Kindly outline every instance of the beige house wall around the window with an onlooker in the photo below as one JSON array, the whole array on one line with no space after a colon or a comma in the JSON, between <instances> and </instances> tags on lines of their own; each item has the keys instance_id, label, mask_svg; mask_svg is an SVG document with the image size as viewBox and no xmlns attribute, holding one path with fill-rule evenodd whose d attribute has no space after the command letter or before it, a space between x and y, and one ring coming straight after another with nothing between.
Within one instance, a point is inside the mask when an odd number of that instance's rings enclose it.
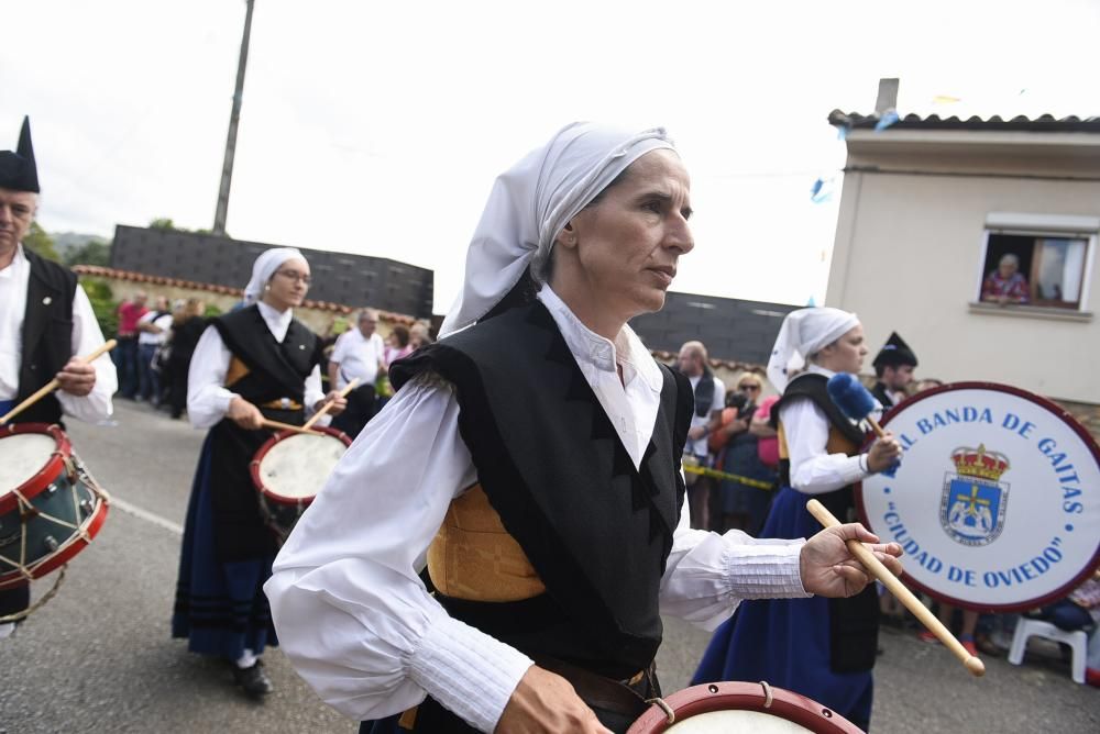
<instances>
[{"instance_id":1,"label":"beige house wall around the window with an onlooker","mask_svg":"<svg viewBox=\"0 0 1100 734\"><path fill-rule=\"evenodd\" d=\"M921 360L919 377L991 380L1100 403L1097 253L1086 275L1086 314L971 307L987 214L1100 216L1100 165L1091 153L1062 167L1060 158L1037 155L849 147L849 166L1010 177L848 173L826 302L859 314L872 351L898 331ZM1050 178L1025 177L1031 170ZM1058 176L1093 180L1054 180Z\"/></svg>"}]
</instances>

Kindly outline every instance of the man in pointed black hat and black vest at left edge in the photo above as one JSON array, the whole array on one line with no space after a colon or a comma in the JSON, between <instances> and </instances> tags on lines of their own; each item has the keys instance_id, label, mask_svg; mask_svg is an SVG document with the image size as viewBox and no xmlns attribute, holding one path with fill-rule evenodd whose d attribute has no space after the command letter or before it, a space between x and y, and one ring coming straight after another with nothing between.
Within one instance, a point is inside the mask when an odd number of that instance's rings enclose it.
<instances>
[{"instance_id":1,"label":"man in pointed black hat and black vest at left edge","mask_svg":"<svg viewBox=\"0 0 1100 734\"><path fill-rule=\"evenodd\" d=\"M37 205L38 173L24 118L19 146L0 151L0 415L56 377L58 389L11 422L59 423L63 413L99 421L111 414L114 365L106 355L90 365L76 358L101 346L103 335L76 275L23 246ZM29 600L26 586L0 590L0 619L25 610ZM12 630L0 622L0 638Z\"/></svg>"}]
</instances>

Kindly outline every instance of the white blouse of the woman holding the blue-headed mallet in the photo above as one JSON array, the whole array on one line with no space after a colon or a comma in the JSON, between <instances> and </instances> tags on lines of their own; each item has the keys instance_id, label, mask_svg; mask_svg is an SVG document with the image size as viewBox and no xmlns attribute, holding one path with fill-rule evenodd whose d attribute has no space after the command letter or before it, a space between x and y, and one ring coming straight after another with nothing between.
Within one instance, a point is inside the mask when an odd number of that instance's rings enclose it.
<instances>
[{"instance_id":1,"label":"white blouse of the woman holding the blue-headed mallet","mask_svg":"<svg viewBox=\"0 0 1100 734\"><path fill-rule=\"evenodd\" d=\"M811 365L806 370L832 377L835 372ZM867 456L827 454L829 421L813 400L792 400L779 409L791 461L791 487L804 494L823 494L870 476Z\"/></svg>"}]
</instances>

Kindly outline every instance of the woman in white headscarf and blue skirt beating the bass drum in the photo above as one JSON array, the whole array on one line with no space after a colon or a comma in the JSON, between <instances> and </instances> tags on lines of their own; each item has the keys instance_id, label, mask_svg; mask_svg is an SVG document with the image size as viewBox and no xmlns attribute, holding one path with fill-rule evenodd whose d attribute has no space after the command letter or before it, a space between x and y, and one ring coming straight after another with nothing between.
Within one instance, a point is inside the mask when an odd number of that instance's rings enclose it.
<instances>
[{"instance_id":1,"label":"woman in white headscarf and blue skirt beating the bass drum","mask_svg":"<svg viewBox=\"0 0 1100 734\"><path fill-rule=\"evenodd\" d=\"M816 533L821 525L806 510L813 497L837 518L854 519L851 485L889 469L901 456L901 445L890 434L860 453L865 432L826 391L833 375L858 375L865 356L864 327L853 313L800 309L783 320L768 363L768 378L782 392L771 413L779 432L781 488L761 535ZM846 599L747 602L715 633L695 682L767 680L866 731L878 615L873 587Z\"/></svg>"}]
</instances>

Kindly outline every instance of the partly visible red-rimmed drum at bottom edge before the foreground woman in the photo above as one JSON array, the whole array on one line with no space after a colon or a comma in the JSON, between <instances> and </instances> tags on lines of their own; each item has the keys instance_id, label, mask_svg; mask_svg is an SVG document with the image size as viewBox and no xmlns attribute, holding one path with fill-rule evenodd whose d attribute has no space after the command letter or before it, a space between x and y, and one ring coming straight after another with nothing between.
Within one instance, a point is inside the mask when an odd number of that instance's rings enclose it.
<instances>
[{"instance_id":1,"label":"partly visible red-rimmed drum at bottom edge before the foreground woman","mask_svg":"<svg viewBox=\"0 0 1100 734\"><path fill-rule=\"evenodd\" d=\"M646 710L627 734L862 734L818 703L767 683L693 686ZM670 721L671 719L671 721Z\"/></svg>"}]
</instances>

